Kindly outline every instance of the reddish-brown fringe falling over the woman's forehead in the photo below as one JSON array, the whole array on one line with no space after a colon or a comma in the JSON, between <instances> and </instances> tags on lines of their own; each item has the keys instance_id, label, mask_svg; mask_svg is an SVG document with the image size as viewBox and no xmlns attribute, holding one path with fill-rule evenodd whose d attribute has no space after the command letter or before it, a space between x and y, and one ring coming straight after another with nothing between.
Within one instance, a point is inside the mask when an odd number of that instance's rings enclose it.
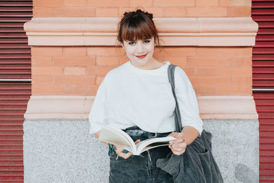
<instances>
[{"instance_id":1,"label":"reddish-brown fringe falling over the woman's forehead","mask_svg":"<svg viewBox=\"0 0 274 183\"><path fill-rule=\"evenodd\" d=\"M125 23L125 27L123 27L121 32L121 38L130 41L145 40L153 36L155 36L154 24L147 23L146 19L140 19L140 17L136 16Z\"/></svg>"}]
</instances>

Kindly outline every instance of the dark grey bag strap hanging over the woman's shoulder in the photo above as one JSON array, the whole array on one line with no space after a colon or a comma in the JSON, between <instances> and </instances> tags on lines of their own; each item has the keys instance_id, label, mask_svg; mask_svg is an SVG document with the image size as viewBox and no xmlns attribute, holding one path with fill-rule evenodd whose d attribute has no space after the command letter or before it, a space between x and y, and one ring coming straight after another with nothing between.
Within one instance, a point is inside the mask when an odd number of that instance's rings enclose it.
<instances>
[{"instance_id":1,"label":"dark grey bag strap hanging over the woman's shoulder","mask_svg":"<svg viewBox=\"0 0 274 183\"><path fill-rule=\"evenodd\" d=\"M175 72L175 67L177 65L173 65L170 64L169 68L168 68L168 75L169 75L169 83L171 84L171 88L172 88L172 93L173 93L173 97L175 99L175 114L174 114L174 118L175 118L175 127L176 127L176 132L181 132L182 131L182 121L181 121L181 114L179 112L179 106L178 106L178 102L177 102L177 97L175 95L175 81L174 81L174 72Z\"/></svg>"}]
</instances>

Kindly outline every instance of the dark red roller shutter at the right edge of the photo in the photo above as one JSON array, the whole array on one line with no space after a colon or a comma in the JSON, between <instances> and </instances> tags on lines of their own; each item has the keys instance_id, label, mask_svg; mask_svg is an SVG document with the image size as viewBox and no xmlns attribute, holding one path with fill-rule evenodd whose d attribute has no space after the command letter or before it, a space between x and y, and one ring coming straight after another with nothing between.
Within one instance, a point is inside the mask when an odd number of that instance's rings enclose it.
<instances>
[{"instance_id":1,"label":"dark red roller shutter at the right edge of the photo","mask_svg":"<svg viewBox=\"0 0 274 183\"><path fill-rule=\"evenodd\" d=\"M260 123L260 182L274 182L274 1L252 1L251 14L259 25L252 90Z\"/></svg>"}]
</instances>

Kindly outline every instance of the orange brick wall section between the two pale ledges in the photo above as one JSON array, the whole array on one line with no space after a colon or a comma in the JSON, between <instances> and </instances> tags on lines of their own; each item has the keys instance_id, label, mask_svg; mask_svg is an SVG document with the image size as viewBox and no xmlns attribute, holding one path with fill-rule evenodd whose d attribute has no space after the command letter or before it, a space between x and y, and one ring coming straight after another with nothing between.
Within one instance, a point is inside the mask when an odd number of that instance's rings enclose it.
<instances>
[{"instance_id":1,"label":"orange brick wall section between the two pale ledges","mask_svg":"<svg viewBox=\"0 0 274 183\"><path fill-rule=\"evenodd\" d=\"M96 95L108 71L128 61L116 47L32 47L32 95ZM197 95L251 95L251 47L162 47Z\"/></svg>"}]
</instances>

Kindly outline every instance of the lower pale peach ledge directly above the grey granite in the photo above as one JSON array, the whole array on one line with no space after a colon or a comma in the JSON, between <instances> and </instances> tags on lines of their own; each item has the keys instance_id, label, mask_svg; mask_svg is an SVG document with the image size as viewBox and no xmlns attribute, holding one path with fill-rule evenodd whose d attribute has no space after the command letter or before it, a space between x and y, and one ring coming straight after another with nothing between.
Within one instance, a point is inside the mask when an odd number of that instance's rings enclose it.
<instances>
[{"instance_id":1,"label":"lower pale peach ledge directly above the grey granite","mask_svg":"<svg viewBox=\"0 0 274 183\"><path fill-rule=\"evenodd\" d=\"M88 119L95 96L32 95L25 119ZM251 95L198 96L201 119L258 119Z\"/></svg>"}]
</instances>

